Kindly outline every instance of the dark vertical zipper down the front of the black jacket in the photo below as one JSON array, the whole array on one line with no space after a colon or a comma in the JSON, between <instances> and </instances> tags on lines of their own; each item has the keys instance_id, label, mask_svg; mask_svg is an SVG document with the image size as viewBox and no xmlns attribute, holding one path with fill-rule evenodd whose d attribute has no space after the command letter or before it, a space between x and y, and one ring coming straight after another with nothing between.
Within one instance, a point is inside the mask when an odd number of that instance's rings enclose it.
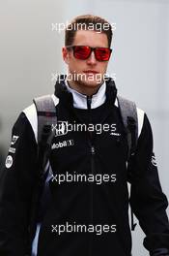
<instances>
[{"instance_id":1,"label":"dark vertical zipper down the front of the black jacket","mask_svg":"<svg viewBox=\"0 0 169 256\"><path fill-rule=\"evenodd\" d=\"M91 113L91 105L92 105L92 96L87 96L87 107L88 107L88 112L89 112L89 123L92 123L92 113ZM89 136L90 136L90 149L91 149L91 171L92 171L92 175L95 175L95 145L94 145L94 136L93 136L93 132L90 131L89 132ZM93 224L93 219L94 219L94 185L91 182L91 186L90 186L90 219L91 219L91 223ZM92 233L90 234L90 246L89 246L89 256L92 256L92 242L93 242L93 235Z\"/></svg>"}]
</instances>

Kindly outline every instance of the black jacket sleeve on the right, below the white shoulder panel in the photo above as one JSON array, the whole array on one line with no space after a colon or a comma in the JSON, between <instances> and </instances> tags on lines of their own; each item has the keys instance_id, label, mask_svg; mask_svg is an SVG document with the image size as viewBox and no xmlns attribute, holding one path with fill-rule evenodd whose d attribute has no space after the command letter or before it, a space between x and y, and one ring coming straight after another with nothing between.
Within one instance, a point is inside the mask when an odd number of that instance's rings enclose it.
<instances>
[{"instance_id":1,"label":"black jacket sleeve on the right, below the white shoulder panel","mask_svg":"<svg viewBox=\"0 0 169 256\"><path fill-rule=\"evenodd\" d=\"M146 114L135 155L128 166L132 174L130 205L146 234L143 244L151 255L169 255L168 202L161 189L153 133Z\"/></svg>"}]
</instances>

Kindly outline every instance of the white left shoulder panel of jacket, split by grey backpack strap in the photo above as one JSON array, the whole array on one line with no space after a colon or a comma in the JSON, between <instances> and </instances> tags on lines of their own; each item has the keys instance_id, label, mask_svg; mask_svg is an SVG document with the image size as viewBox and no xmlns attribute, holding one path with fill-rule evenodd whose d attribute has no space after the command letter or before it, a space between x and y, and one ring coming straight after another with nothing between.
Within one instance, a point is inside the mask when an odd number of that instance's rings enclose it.
<instances>
[{"instance_id":1,"label":"white left shoulder panel of jacket, split by grey backpack strap","mask_svg":"<svg viewBox=\"0 0 169 256\"><path fill-rule=\"evenodd\" d=\"M54 94L52 94L51 97L53 99L55 106L57 106L59 103L59 98L57 98ZM30 122L32 130L35 135L36 142L38 143L38 115L35 104L33 103L32 105L24 109L22 112L24 112L28 121Z\"/></svg>"}]
</instances>

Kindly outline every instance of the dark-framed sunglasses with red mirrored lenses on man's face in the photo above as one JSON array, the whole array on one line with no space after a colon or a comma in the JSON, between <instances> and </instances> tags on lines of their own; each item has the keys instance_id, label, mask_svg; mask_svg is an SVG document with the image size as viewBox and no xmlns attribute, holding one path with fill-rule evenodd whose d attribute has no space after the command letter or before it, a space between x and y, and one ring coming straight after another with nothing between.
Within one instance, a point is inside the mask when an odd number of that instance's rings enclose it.
<instances>
[{"instance_id":1,"label":"dark-framed sunglasses with red mirrored lenses on man's face","mask_svg":"<svg viewBox=\"0 0 169 256\"><path fill-rule=\"evenodd\" d=\"M81 60L89 58L92 51L94 51L97 60L107 61L112 52L111 48L90 48L86 46L69 46L67 48L72 48L74 57Z\"/></svg>"}]
</instances>

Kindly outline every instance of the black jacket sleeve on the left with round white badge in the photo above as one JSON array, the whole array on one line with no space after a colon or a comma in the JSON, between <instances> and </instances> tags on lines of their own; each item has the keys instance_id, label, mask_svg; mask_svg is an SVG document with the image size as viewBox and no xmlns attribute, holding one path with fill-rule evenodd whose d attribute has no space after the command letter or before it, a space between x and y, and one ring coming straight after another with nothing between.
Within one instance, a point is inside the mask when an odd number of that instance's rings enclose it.
<instances>
[{"instance_id":1,"label":"black jacket sleeve on the left with round white badge","mask_svg":"<svg viewBox=\"0 0 169 256\"><path fill-rule=\"evenodd\" d=\"M25 256L36 184L37 143L24 112L18 116L0 178L0 255Z\"/></svg>"}]
</instances>

